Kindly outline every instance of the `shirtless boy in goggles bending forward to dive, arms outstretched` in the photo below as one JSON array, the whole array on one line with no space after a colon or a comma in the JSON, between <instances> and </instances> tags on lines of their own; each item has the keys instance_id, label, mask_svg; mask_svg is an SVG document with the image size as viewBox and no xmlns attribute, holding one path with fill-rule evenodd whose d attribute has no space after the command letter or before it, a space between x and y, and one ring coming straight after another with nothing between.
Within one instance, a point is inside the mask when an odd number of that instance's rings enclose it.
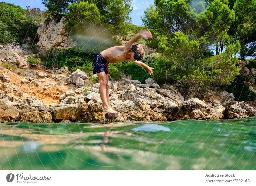
<instances>
[{"instance_id":1,"label":"shirtless boy in goggles bending forward to dive, arms outstretched","mask_svg":"<svg viewBox=\"0 0 256 186\"><path fill-rule=\"evenodd\" d=\"M98 54L93 62L93 74L97 74L100 80L100 98L103 103L103 112L105 113L117 113L111 108L109 93L108 93L108 63L118 63L123 61L132 61L142 68L148 70L149 75L153 74L153 69L143 62L139 61L144 56L144 49L140 44L134 44L138 39L142 37L144 39L152 38L152 34L149 30L142 30L140 34L135 35L131 40L125 43L124 46L114 46L106 50L103 50Z\"/></svg>"}]
</instances>

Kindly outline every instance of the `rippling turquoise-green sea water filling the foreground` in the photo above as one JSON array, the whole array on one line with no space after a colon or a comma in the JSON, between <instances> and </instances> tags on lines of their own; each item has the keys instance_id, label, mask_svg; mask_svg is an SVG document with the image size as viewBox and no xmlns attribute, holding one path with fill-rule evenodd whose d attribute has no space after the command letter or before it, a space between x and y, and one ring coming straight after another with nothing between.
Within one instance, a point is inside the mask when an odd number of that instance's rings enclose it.
<instances>
[{"instance_id":1,"label":"rippling turquoise-green sea water filling the foreground","mask_svg":"<svg viewBox=\"0 0 256 186\"><path fill-rule=\"evenodd\" d=\"M0 130L0 170L256 170L256 117Z\"/></svg>"}]
</instances>

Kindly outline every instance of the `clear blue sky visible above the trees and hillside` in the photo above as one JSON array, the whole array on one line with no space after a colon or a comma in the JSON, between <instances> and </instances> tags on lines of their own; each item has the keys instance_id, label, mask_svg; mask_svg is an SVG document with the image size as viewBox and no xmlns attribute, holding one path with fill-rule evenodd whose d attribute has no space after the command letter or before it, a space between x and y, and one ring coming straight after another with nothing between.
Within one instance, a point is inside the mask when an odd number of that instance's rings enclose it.
<instances>
[{"instance_id":1,"label":"clear blue sky visible above the trees and hillside","mask_svg":"<svg viewBox=\"0 0 256 186\"><path fill-rule=\"evenodd\" d=\"M40 8L41 10L46 9L43 6L42 0L0 0L7 3L12 3L14 5L20 5L22 8L26 9L26 6L31 8ZM130 14L132 18L132 23L135 25L141 25L141 17L144 15L143 11L149 7L149 5L154 4L154 0L132 0L133 11Z\"/></svg>"}]
</instances>

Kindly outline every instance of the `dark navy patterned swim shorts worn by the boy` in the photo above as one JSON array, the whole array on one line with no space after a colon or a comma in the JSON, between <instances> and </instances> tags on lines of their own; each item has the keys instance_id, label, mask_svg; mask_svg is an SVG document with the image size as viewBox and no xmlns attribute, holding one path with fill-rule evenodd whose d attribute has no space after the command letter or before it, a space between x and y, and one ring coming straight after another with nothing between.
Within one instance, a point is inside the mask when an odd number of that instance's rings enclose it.
<instances>
[{"instance_id":1,"label":"dark navy patterned swim shorts worn by the boy","mask_svg":"<svg viewBox=\"0 0 256 186\"><path fill-rule=\"evenodd\" d=\"M92 61L93 74L96 72L105 72L106 75L109 74L108 61L101 55L98 54Z\"/></svg>"}]
</instances>

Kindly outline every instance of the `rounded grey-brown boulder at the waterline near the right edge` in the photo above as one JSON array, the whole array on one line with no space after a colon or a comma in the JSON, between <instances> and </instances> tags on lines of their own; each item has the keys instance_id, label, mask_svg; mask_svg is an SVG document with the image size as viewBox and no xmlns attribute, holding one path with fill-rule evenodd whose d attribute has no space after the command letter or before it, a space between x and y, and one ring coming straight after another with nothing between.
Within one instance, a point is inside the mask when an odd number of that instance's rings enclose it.
<instances>
[{"instance_id":1,"label":"rounded grey-brown boulder at the waterline near the right edge","mask_svg":"<svg viewBox=\"0 0 256 186\"><path fill-rule=\"evenodd\" d=\"M238 119L247 117L249 117L248 112L237 105L227 106L223 112L224 119Z\"/></svg>"}]
</instances>

